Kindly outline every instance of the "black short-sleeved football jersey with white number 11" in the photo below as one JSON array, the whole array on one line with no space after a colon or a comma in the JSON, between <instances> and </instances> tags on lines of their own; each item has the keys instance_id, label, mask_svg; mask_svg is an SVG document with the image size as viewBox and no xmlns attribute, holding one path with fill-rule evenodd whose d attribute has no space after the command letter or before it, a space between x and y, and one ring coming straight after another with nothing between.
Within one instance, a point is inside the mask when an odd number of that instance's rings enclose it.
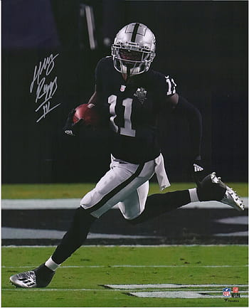
<instances>
[{"instance_id":1,"label":"black short-sleeved football jersey with white number 11","mask_svg":"<svg viewBox=\"0 0 249 308\"><path fill-rule=\"evenodd\" d=\"M149 70L125 82L111 57L99 61L95 79L97 104L105 109L112 130L112 155L134 164L159 156L157 116L165 97L176 92L174 80Z\"/></svg>"}]
</instances>

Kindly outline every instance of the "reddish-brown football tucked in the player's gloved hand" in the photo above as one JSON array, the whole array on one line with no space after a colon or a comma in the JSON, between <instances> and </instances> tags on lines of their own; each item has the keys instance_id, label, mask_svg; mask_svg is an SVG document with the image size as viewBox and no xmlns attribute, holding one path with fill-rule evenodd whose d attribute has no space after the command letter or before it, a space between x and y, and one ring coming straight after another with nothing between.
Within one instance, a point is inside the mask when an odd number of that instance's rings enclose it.
<instances>
[{"instance_id":1,"label":"reddish-brown football tucked in the player's gloved hand","mask_svg":"<svg viewBox=\"0 0 249 308\"><path fill-rule=\"evenodd\" d=\"M73 123L77 123L80 119L84 120L86 126L97 127L99 124L99 115L94 104L82 104L75 108L73 115Z\"/></svg>"}]
</instances>

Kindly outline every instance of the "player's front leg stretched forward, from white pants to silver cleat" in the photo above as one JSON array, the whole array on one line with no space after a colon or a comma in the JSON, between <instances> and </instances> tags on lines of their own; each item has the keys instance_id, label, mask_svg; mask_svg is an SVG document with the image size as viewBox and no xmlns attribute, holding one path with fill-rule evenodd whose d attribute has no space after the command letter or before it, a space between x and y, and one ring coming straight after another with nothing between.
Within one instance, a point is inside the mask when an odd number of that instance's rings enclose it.
<instances>
[{"instance_id":1,"label":"player's front leg stretched forward, from white pants to silver cleat","mask_svg":"<svg viewBox=\"0 0 249 308\"><path fill-rule=\"evenodd\" d=\"M83 245L92 222L116 203L124 200L153 174L154 161L140 165L112 161L110 171L83 197L70 229L65 233L53 255L35 270L11 276L11 282L16 287L46 287L61 262Z\"/></svg>"}]
</instances>

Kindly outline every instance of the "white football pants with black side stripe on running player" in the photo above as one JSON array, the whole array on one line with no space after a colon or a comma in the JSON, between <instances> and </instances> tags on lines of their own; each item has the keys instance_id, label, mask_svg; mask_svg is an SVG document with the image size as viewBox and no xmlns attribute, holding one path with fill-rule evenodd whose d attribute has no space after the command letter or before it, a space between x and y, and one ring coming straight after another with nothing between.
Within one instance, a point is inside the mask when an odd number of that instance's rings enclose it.
<instances>
[{"instance_id":1,"label":"white football pants with black side stripe on running player","mask_svg":"<svg viewBox=\"0 0 249 308\"><path fill-rule=\"evenodd\" d=\"M159 166L158 159L161 162L163 158L159 156L143 164L131 164L112 156L110 170L95 188L81 199L80 206L88 210L92 216L100 218L117 204L124 218L136 218L144 211L149 179L154 175L156 166ZM161 165L164 168L164 164ZM169 181L166 186L169 186Z\"/></svg>"}]
</instances>

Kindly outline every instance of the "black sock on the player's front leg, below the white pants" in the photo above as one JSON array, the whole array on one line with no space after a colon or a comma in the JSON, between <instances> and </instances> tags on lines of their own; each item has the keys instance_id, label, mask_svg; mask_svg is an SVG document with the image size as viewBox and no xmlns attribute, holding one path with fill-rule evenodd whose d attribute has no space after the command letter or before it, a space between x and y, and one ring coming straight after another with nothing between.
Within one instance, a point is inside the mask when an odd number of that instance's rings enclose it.
<instances>
[{"instance_id":1,"label":"black sock on the player's front leg, below the white pants","mask_svg":"<svg viewBox=\"0 0 249 308\"><path fill-rule=\"evenodd\" d=\"M60 244L55 249L52 255L52 260L61 264L64 262L72 253L75 252L81 245L83 245L85 239L88 236L90 226L93 221L97 218L87 213L84 208L80 206L75 211L73 223L67 233L63 236Z\"/></svg>"}]
</instances>

